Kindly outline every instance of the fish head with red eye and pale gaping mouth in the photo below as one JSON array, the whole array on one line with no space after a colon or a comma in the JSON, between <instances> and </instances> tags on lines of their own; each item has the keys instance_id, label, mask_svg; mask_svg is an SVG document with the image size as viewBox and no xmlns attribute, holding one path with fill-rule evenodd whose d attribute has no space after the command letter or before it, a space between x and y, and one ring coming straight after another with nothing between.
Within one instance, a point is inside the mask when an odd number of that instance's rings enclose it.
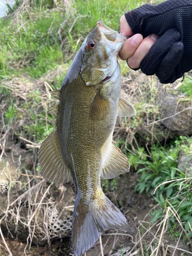
<instances>
[{"instance_id":1,"label":"fish head with red eye and pale gaping mouth","mask_svg":"<svg viewBox=\"0 0 192 256\"><path fill-rule=\"evenodd\" d=\"M82 45L81 77L87 86L109 80L117 69L117 58L127 37L98 20Z\"/></svg>"}]
</instances>

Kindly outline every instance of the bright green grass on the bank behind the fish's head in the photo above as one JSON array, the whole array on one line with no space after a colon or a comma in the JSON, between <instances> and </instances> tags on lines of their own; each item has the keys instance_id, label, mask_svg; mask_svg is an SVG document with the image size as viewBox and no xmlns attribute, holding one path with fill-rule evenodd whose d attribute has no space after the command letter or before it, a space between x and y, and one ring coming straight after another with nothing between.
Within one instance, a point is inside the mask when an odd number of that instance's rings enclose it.
<instances>
[{"instance_id":1,"label":"bright green grass on the bank behind the fish's head","mask_svg":"<svg viewBox=\"0 0 192 256\"><path fill-rule=\"evenodd\" d=\"M126 0L76 0L66 9L62 6L64 11L56 8L52 10L52 0L32 3L28 11L30 15L27 12L20 13L22 23L13 24L11 18L0 19L0 79L19 76L20 72L35 79L57 64L69 63L98 19L119 31L119 19L124 12L139 7L146 1L131 0L127 6ZM20 1L16 1L14 7L9 7L9 12L13 12L20 4ZM63 20L66 20L64 25Z\"/></svg>"}]
</instances>

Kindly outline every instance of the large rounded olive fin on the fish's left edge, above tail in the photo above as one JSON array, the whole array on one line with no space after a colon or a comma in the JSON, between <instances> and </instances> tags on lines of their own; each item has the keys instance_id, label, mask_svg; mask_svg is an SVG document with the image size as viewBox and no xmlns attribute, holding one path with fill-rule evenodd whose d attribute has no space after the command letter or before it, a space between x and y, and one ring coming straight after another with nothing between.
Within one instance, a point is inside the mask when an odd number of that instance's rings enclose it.
<instances>
[{"instance_id":1,"label":"large rounded olive fin on the fish's left edge, above tail","mask_svg":"<svg viewBox=\"0 0 192 256\"><path fill-rule=\"evenodd\" d=\"M42 142L39 151L42 176L54 183L66 183L71 180L69 167L62 159L57 131L53 131Z\"/></svg>"}]
</instances>

